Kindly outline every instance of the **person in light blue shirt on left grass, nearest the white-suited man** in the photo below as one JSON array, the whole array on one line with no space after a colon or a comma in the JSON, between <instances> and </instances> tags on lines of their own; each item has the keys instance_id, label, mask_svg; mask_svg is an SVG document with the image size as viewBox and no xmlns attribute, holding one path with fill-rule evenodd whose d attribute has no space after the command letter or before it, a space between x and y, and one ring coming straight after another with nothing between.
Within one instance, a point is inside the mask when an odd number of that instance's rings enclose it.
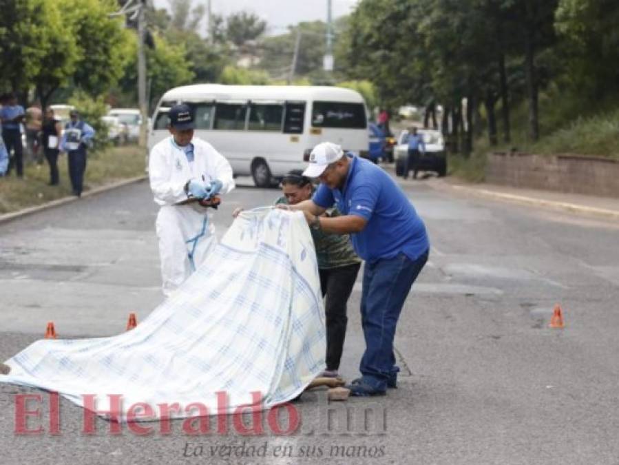
<instances>
[{"instance_id":1,"label":"person in light blue shirt on left grass, nearest the white-suited man","mask_svg":"<svg viewBox=\"0 0 619 465\"><path fill-rule=\"evenodd\" d=\"M86 170L86 149L94 137L94 129L81 120L76 110L72 110L70 117L71 120L65 126L60 149L61 152L67 152L73 194L80 197Z\"/></svg>"}]
</instances>

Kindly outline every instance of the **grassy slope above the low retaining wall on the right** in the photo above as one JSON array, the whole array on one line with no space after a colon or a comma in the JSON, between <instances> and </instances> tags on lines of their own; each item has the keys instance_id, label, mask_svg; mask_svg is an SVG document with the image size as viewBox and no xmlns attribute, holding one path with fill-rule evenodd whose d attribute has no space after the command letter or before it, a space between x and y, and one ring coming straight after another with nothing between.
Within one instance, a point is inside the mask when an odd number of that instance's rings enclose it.
<instances>
[{"instance_id":1,"label":"grassy slope above the low retaining wall on the right","mask_svg":"<svg viewBox=\"0 0 619 465\"><path fill-rule=\"evenodd\" d=\"M619 160L619 105L616 100L591 105L591 102L569 99L551 90L540 95L539 106L539 141L532 143L527 137L528 109L523 102L511 115L511 143L501 142L503 132L499 123L499 145L491 147L484 133L476 139L470 158L450 156L450 174L481 182L487 153L512 149L530 154L576 154Z\"/></svg>"}]
</instances>

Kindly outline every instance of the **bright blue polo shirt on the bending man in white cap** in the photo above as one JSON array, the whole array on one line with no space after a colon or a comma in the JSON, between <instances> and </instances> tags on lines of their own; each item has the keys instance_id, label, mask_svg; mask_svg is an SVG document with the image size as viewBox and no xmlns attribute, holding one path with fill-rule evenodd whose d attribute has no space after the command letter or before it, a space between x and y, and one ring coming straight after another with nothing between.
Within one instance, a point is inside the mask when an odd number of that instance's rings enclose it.
<instances>
[{"instance_id":1,"label":"bright blue polo shirt on the bending man in white cap","mask_svg":"<svg viewBox=\"0 0 619 465\"><path fill-rule=\"evenodd\" d=\"M416 260L430 247L426 225L406 194L383 169L371 161L350 157L346 184L340 189L319 185L312 200L328 208L337 205L342 215L357 215L368 223L350 234L355 252L368 262L405 254Z\"/></svg>"}]
</instances>

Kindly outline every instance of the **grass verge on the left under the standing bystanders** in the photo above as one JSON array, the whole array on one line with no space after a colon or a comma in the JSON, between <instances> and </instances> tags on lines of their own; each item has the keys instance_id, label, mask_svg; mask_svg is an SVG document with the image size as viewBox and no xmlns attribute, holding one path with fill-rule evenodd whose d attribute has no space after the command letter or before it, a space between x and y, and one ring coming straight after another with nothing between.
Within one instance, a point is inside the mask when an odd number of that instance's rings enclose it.
<instances>
[{"instance_id":1,"label":"grass verge on the left under the standing bystanders","mask_svg":"<svg viewBox=\"0 0 619 465\"><path fill-rule=\"evenodd\" d=\"M126 178L144 174L145 151L136 145L113 147L103 152L89 153L84 175L84 191L93 187L114 183ZM59 157L60 185L50 186L50 168L34 163L25 165L24 178L11 176L0 178L0 214L17 211L34 205L48 203L50 200L70 196L72 193L67 155Z\"/></svg>"}]
</instances>

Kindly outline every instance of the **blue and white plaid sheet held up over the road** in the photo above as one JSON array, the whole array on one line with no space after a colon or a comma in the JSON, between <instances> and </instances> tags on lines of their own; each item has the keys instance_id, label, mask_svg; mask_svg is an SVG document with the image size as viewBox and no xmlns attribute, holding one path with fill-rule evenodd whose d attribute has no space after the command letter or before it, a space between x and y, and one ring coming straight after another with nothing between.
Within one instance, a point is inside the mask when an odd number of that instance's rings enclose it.
<instances>
[{"instance_id":1,"label":"blue and white plaid sheet held up over the road","mask_svg":"<svg viewBox=\"0 0 619 465\"><path fill-rule=\"evenodd\" d=\"M199 402L215 414L216 393L225 391L231 413L255 391L262 409L291 400L324 369L325 351L304 216L264 209L241 214L205 265L136 329L39 340L6 362L11 372L0 382L58 391L81 406L83 395L96 395L97 411L109 410L108 395L122 395L121 418L137 402Z\"/></svg>"}]
</instances>

